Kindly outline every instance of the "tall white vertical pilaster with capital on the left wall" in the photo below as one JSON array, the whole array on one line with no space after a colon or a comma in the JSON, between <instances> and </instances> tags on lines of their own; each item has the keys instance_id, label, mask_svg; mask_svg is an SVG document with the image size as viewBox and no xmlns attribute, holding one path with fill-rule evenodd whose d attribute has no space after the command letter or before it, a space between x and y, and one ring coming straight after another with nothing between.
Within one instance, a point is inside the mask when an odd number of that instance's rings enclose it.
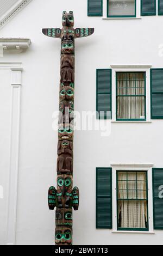
<instances>
[{"instance_id":1,"label":"tall white vertical pilaster with capital on the left wall","mask_svg":"<svg viewBox=\"0 0 163 256\"><path fill-rule=\"evenodd\" d=\"M11 70L11 117L10 117L10 157L8 191L7 245L15 245L17 181L20 144L20 103L21 103L21 63L0 63L0 69Z\"/></svg>"}]
</instances>

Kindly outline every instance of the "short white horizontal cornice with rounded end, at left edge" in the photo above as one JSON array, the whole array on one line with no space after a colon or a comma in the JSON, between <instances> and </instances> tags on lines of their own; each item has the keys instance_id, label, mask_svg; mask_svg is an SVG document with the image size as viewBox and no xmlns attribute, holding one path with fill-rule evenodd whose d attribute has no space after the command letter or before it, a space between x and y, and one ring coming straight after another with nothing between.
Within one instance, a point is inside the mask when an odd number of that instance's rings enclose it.
<instances>
[{"instance_id":1,"label":"short white horizontal cornice with rounded end, at left edge","mask_svg":"<svg viewBox=\"0 0 163 256\"><path fill-rule=\"evenodd\" d=\"M4 52L20 53L29 48L29 38L0 38L1 57Z\"/></svg>"}]
</instances>

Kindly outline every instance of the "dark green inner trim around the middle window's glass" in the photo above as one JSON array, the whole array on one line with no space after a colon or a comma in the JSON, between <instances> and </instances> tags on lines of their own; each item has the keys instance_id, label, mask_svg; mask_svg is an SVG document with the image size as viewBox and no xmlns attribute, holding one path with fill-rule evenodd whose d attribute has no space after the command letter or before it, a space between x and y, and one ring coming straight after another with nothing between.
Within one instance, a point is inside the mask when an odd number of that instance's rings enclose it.
<instances>
[{"instance_id":1,"label":"dark green inner trim around the middle window's glass","mask_svg":"<svg viewBox=\"0 0 163 256\"><path fill-rule=\"evenodd\" d=\"M125 72L125 71L123 71L124 73L127 73L127 72ZM122 72L122 73L123 73ZM132 118L118 118L117 117L117 73L119 73L119 72L117 72L116 71L116 121L146 121L147 120L147 110L146 110L146 105L147 105L147 102L146 102L146 99L147 99L147 97L146 97L146 72L145 71L139 71L139 72L136 72L136 71L131 71L131 72L128 72L128 73L141 73L141 72L144 72L145 74L145 118L137 118L137 119L132 119Z\"/></svg>"}]
</instances>

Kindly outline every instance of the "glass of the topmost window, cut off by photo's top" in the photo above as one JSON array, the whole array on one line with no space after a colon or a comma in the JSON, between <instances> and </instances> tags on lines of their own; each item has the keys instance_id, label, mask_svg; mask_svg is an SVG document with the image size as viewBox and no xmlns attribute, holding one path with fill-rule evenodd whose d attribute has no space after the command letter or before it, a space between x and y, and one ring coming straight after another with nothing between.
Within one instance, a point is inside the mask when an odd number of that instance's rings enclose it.
<instances>
[{"instance_id":1,"label":"glass of the topmost window, cut off by photo's top","mask_svg":"<svg viewBox=\"0 0 163 256\"><path fill-rule=\"evenodd\" d=\"M108 0L109 16L135 16L135 0Z\"/></svg>"}]
</instances>

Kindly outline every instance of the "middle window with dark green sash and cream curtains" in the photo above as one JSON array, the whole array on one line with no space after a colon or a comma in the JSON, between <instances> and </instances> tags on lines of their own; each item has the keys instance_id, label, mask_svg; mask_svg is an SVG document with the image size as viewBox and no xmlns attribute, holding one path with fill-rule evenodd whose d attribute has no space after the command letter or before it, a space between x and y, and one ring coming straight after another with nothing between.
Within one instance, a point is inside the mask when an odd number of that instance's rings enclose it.
<instances>
[{"instance_id":1,"label":"middle window with dark green sash and cream curtains","mask_svg":"<svg viewBox=\"0 0 163 256\"><path fill-rule=\"evenodd\" d=\"M146 120L146 72L116 72L116 119Z\"/></svg>"}]
</instances>

